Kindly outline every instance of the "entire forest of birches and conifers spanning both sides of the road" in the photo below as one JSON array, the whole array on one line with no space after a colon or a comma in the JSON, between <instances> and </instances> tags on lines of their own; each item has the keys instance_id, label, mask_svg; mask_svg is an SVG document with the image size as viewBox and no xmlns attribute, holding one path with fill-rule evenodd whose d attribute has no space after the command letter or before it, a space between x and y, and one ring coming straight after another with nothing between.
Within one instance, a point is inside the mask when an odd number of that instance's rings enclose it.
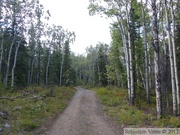
<instances>
[{"instance_id":1,"label":"entire forest of birches and conifers spanning both sides of the road","mask_svg":"<svg viewBox=\"0 0 180 135\"><path fill-rule=\"evenodd\" d=\"M158 119L179 116L180 1L89 0L88 9L92 17L113 20L112 42L76 55L70 50L75 32L50 25L51 13L39 0L1 0L0 93L31 86L118 87L126 89L129 106L155 99Z\"/></svg>"}]
</instances>

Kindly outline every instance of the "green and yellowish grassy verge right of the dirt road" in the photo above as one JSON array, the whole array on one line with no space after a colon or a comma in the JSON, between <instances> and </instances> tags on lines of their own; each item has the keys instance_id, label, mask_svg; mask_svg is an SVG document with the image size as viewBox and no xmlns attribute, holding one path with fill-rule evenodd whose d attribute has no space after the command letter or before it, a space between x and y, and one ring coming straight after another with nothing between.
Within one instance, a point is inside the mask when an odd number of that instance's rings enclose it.
<instances>
[{"instance_id":1,"label":"green and yellowish grassy verge right of the dirt road","mask_svg":"<svg viewBox=\"0 0 180 135\"><path fill-rule=\"evenodd\" d=\"M155 99L147 105L145 100L136 101L129 106L127 90L114 87L93 88L104 105L104 111L128 127L180 127L180 118L166 115L161 120L156 118Z\"/></svg>"}]
</instances>

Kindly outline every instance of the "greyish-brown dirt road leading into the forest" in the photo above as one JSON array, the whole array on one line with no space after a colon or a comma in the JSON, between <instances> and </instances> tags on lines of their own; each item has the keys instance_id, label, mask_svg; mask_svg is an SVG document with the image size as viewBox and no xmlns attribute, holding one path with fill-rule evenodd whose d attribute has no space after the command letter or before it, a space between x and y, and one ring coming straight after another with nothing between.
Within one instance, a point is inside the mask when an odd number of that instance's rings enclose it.
<instances>
[{"instance_id":1,"label":"greyish-brown dirt road leading into the forest","mask_svg":"<svg viewBox=\"0 0 180 135\"><path fill-rule=\"evenodd\" d=\"M95 93L77 87L77 93L59 116L49 135L120 135L100 110Z\"/></svg>"}]
</instances>

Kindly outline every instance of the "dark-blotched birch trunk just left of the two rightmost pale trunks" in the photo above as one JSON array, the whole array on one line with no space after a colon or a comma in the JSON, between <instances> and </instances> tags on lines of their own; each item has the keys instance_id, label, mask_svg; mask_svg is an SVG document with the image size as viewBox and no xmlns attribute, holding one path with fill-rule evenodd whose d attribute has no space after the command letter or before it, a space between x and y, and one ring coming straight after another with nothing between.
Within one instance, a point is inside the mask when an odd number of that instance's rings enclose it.
<instances>
[{"instance_id":1,"label":"dark-blotched birch trunk just left of the two rightmost pale trunks","mask_svg":"<svg viewBox=\"0 0 180 135\"><path fill-rule=\"evenodd\" d=\"M155 88L156 88L156 110L157 118L162 117L162 95L160 84L160 71L159 71L159 36L158 36L158 21L157 21L157 8L156 0L151 0L153 12L153 47L154 47L154 66L155 66Z\"/></svg>"}]
</instances>

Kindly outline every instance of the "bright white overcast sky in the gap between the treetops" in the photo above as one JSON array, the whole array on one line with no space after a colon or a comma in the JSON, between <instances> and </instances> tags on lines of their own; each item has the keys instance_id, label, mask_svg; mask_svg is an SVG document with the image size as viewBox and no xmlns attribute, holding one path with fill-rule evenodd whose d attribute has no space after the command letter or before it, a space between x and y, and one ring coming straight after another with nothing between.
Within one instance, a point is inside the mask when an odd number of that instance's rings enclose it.
<instances>
[{"instance_id":1,"label":"bright white overcast sky in the gap between the treetops","mask_svg":"<svg viewBox=\"0 0 180 135\"><path fill-rule=\"evenodd\" d=\"M110 44L110 19L99 15L90 16L88 0L40 0L45 9L50 10L50 23L74 31L76 40L71 44L71 51L85 54L85 48L98 42Z\"/></svg>"}]
</instances>

